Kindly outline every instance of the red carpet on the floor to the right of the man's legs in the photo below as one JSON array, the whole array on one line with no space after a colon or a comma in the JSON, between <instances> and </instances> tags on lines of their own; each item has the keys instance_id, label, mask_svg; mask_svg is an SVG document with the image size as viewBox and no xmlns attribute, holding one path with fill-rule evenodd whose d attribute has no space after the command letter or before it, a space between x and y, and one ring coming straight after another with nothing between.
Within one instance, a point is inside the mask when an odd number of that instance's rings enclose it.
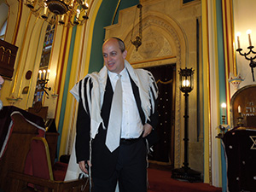
<instances>
[{"instance_id":1,"label":"red carpet on the floor to the right of the man's legs","mask_svg":"<svg viewBox=\"0 0 256 192\"><path fill-rule=\"evenodd\" d=\"M148 169L148 192L221 192L207 183L189 183L171 178L172 173L157 169Z\"/></svg>"}]
</instances>

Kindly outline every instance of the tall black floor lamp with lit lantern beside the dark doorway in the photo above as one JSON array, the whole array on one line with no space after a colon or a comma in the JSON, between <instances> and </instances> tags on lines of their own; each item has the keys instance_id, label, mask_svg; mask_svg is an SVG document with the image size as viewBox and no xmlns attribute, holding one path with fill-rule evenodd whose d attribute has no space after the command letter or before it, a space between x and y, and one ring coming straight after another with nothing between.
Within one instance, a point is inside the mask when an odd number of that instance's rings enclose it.
<instances>
[{"instance_id":1,"label":"tall black floor lamp with lit lantern beside the dark doorway","mask_svg":"<svg viewBox=\"0 0 256 192\"><path fill-rule=\"evenodd\" d=\"M185 67L179 71L179 89L184 93L185 96L185 114L184 114L184 162L183 167L172 170L172 178L185 179L189 182L199 181L201 182L201 172L196 172L189 168L188 160L188 119L189 119L189 106L188 98L189 92L194 88L194 70L192 68Z\"/></svg>"}]
</instances>

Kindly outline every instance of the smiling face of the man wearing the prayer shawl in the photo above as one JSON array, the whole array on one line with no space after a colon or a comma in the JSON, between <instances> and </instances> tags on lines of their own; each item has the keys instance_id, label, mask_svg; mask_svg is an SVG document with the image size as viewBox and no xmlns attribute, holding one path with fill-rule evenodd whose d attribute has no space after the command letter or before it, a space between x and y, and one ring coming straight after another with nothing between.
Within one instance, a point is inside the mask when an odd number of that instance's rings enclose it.
<instances>
[{"instance_id":1,"label":"smiling face of the man wearing the prayer shawl","mask_svg":"<svg viewBox=\"0 0 256 192\"><path fill-rule=\"evenodd\" d=\"M102 55L105 65L110 72L120 73L124 69L127 51L121 52L117 39L110 38L103 44Z\"/></svg>"}]
</instances>

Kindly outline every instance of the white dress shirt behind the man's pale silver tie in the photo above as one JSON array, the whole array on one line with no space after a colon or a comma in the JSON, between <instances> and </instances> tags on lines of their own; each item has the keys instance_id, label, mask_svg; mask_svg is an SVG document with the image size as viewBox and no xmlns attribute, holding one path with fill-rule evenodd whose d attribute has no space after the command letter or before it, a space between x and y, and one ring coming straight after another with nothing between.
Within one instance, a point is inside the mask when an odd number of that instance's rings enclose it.
<instances>
[{"instance_id":1,"label":"white dress shirt behind the man's pale silver tie","mask_svg":"<svg viewBox=\"0 0 256 192\"><path fill-rule=\"evenodd\" d=\"M137 103L131 88L131 79L126 69L121 73L121 84L123 90L123 115L121 138L137 138L143 133L143 124L138 113ZM118 74L108 71L109 79L114 90Z\"/></svg>"}]
</instances>

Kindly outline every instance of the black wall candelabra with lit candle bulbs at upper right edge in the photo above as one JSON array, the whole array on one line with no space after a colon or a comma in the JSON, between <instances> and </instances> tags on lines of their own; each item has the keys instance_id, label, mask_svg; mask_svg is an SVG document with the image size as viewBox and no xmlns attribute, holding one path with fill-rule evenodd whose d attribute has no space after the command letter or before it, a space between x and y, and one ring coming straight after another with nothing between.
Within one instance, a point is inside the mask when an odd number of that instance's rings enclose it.
<instances>
[{"instance_id":1,"label":"black wall candelabra with lit candle bulbs at upper right edge","mask_svg":"<svg viewBox=\"0 0 256 192\"><path fill-rule=\"evenodd\" d=\"M249 40L249 46L247 47L247 49L249 49L249 50L248 50L247 53L246 53L246 52L241 53L242 49L241 49L241 47L240 47L240 39L239 39L241 33L240 33L240 32L237 32L236 38L237 38L237 47L238 47L238 49L236 49L236 51L238 51L240 55L244 56L248 61L250 61L249 66L251 67L251 71L252 71L252 75L253 75L253 81L254 81L254 72L253 72L253 68L256 67L256 62L253 61L253 60L256 59L256 55L255 55L256 52L253 51L254 46L252 45L251 33L252 33L251 30L247 30L247 35L248 35L248 40ZM253 57L252 57L252 56L248 56L248 55L250 55L250 54L254 54L254 56L253 56Z\"/></svg>"}]
</instances>

